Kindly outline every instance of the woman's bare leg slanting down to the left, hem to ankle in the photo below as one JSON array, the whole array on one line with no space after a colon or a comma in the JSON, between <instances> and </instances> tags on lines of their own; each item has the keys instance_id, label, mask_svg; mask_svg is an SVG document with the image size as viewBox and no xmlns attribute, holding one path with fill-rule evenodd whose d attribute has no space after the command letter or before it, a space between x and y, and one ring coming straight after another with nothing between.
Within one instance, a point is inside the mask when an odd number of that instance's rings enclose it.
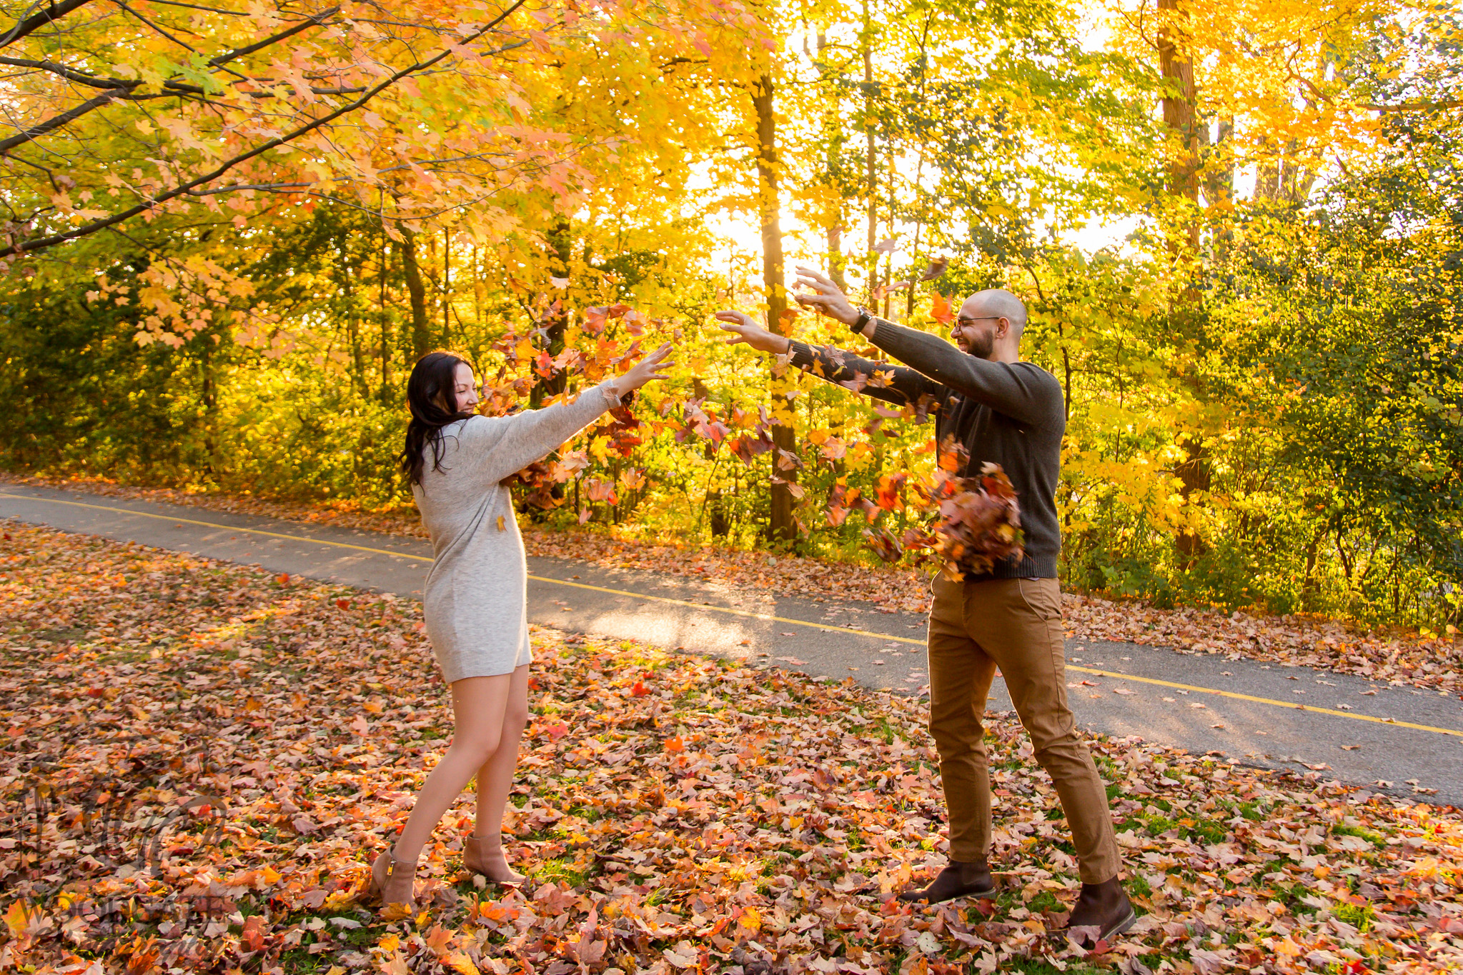
<instances>
[{"instance_id":1,"label":"woman's bare leg slanting down to the left, hem to ankle","mask_svg":"<svg viewBox=\"0 0 1463 975\"><path fill-rule=\"evenodd\" d=\"M515 677L516 672L454 681L452 744L417 794L411 816L396 838L396 860L415 862L442 816L452 808L483 763L497 751ZM527 694L527 677L524 693Z\"/></svg>"}]
</instances>

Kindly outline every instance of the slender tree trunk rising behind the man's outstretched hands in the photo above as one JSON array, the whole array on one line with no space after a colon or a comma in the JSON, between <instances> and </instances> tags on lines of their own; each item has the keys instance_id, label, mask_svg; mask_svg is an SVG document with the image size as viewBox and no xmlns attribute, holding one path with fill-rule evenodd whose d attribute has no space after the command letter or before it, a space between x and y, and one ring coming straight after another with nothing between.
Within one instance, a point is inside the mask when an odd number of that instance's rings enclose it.
<instances>
[{"instance_id":1,"label":"slender tree trunk rising behind the man's outstretched hands","mask_svg":"<svg viewBox=\"0 0 1463 975\"><path fill-rule=\"evenodd\" d=\"M777 117L772 114L771 75L762 75L756 79L752 107L756 111L756 183L762 222L762 287L767 289L767 326L778 335L790 336L791 323L783 314L787 311L787 289L783 285L783 225L777 193ZM786 365L774 364L774 377L786 368ZM777 403L774 403L774 412L775 408ZM786 403L786 408L791 408L791 401ZM777 462L783 452L796 453L797 450L793 428L774 424L772 443L777 447L771 453L772 474L783 481L796 482L797 471L783 471ZM797 539L793 501L793 493L786 484L772 485L772 516L768 535L775 542L790 544Z\"/></svg>"}]
</instances>

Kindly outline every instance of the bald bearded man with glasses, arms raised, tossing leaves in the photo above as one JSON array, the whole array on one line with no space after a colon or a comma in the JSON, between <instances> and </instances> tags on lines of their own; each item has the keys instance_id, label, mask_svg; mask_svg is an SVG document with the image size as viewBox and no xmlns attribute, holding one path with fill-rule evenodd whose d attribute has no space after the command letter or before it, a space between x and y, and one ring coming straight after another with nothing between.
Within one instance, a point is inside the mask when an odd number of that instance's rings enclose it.
<instances>
[{"instance_id":1,"label":"bald bearded man with glasses, arms raised, tossing leaves","mask_svg":"<svg viewBox=\"0 0 1463 975\"><path fill-rule=\"evenodd\" d=\"M929 729L949 816L949 862L925 889L903 900L938 903L995 896L990 848L990 776L986 765L986 694L996 668L1005 678L1036 760L1052 776L1077 848L1081 893L1068 921L1086 944L1127 931L1135 921L1118 881L1118 842L1107 794L1067 706L1061 551L1056 493L1067 428L1056 377L1020 361L1026 306L1009 291L980 291L960 306L955 345L873 317L854 307L821 272L799 266L799 304L847 325L904 365L873 363L831 348L812 348L759 327L740 311L717 311L732 345L789 355L793 365L869 396L938 409L936 443L954 436L969 452L961 474L986 462L1005 468L1021 506L1026 555L983 576L933 582L929 615ZM875 377L875 373L879 376ZM875 379L875 383L863 380Z\"/></svg>"}]
</instances>

